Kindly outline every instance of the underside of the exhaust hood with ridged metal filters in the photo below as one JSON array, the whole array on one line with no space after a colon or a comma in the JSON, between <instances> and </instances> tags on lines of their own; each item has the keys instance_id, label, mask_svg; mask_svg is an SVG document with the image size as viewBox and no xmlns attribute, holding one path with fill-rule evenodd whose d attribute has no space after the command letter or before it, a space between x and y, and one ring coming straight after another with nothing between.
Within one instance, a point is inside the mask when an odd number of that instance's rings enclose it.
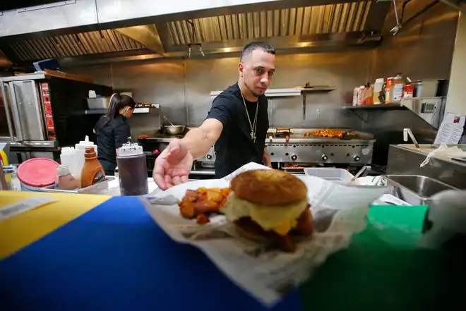
<instances>
[{"instance_id":1,"label":"underside of the exhaust hood with ridged metal filters","mask_svg":"<svg viewBox=\"0 0 466 311\"><path fill-rule=\"evenodd\" d=\"M374 42L381 41L379 33L389 7L390 1L352 1L255 9L189 20L159 19L150 25L8 40L1 49L15 63L49 58L61 59L64 63L92 63L110 61L112 57L112 61L128 61L131 57L182 57L187 55L186 44L201 44L205 54L232 53L253 39L265 39L278 50L294 52L373 46ZM193 56L200 56L196 53L193 47Z\"/></svg>"}]
</instances>

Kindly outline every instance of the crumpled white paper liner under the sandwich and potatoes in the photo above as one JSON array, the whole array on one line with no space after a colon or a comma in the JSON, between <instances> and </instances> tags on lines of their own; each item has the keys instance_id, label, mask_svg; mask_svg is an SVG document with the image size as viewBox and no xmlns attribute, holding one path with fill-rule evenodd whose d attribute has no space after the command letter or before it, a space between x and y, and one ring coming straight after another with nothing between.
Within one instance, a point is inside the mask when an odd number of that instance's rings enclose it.
<instances>
[{"instance_id":1,"label":"crumpled white paper liner under the sandwich and potatoes","mask_svg":"<svg viewBox=\"0 0 466 311\"><path fill-rule=\"evenodd\" d=\"M234 283L265 305L277 303L290 288L305 281L329 255L346 248L352 234L365 228L371 202L388 190L386 187L341 185L315 176L299 176L308 189L316 232L311 238L300 240L294 253L242 238L223 215L211 218L205 225L180 216L176 202L187 189L228 187L234 176L251 169L268 168L246 164L225 178L184 183L162 193L141 197L141 202L168 236L203 250Z\"/></svg>"}]
</instances>

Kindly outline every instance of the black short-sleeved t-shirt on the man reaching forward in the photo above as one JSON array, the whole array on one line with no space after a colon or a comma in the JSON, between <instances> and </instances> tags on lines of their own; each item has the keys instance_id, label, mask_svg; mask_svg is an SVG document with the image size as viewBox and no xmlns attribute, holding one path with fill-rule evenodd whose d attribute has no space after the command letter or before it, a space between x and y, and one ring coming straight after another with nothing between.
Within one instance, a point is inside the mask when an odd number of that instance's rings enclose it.
<instances>
[{"instance_id":1,"label":"black short-sleeved t-shirt on the man reaching forward","mask_svg":"<svg viewBox=\"0 0 466 311\"><path fill-rule=\"evenodd\" d=\"M254 121L256 102L245 99L247 113ZM258 99L256 142L251 140L246 109L239 91L238 83L215 97L207 118L222 122L223 130L215 142L215 178L222 178L251 161L262 164L265 137L268 130L267 97Z\"/></svg>"}]
</instances>

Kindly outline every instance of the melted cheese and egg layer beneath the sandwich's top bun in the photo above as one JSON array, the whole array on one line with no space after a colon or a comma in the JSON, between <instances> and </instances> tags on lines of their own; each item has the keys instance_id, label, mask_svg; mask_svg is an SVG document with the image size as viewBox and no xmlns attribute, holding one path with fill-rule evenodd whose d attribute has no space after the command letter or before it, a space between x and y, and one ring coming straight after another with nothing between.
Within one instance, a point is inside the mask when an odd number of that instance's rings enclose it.
<instances>
[{"instance_id":1,"label":"melted cheese and egg layer beneath the sandwich's top bun","mask_svg":"<svg viewBox=\"0 0 466 311\"><path fill-rule=\"evenodd\" d=\"M227 221L235 221L241 217L251 217L265 231L273 230L282 236L296 226L296 219L307 208L307 198L292 205L256 205L242 200L231 193L222 207Z\"/></svg>"}]
</instances>

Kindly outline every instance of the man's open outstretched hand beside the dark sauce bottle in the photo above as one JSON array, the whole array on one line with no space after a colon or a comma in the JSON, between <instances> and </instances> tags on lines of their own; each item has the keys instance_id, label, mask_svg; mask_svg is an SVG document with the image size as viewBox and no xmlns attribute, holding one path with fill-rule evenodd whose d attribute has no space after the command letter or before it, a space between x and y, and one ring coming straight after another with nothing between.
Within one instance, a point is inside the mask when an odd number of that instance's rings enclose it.
<instances>
[{"instance_id":1,"label":"man's open outstretched hand beside the dark sauce bottle","mask_svg":"<svg viewBox=\"0 0 466 311\"><path fill-rule=\"evenodd\" d=\"M193 166L193 156L181 140L173 140L155 159L153 178L162 190L186 183Z\"/></svg>"}]
</instances>

